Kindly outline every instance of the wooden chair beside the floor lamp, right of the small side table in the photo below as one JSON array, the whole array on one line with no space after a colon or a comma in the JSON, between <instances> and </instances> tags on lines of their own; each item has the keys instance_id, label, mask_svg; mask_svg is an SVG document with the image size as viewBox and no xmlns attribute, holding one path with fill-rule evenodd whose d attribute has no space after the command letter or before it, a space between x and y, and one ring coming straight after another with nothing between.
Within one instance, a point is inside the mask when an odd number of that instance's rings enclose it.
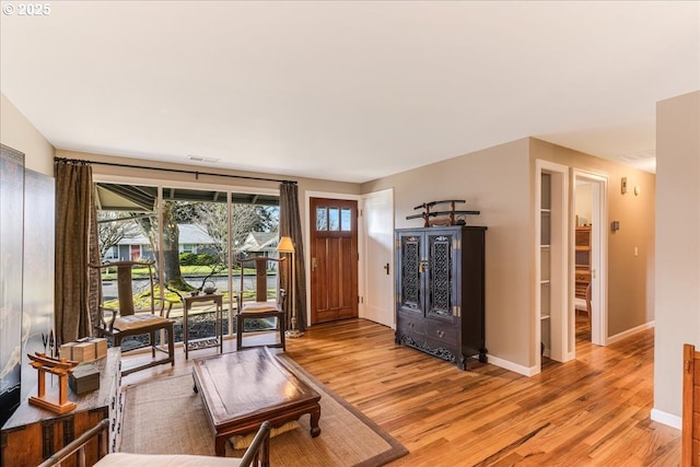
<instances>
[{"instance_id":1,"label":"wooden chair beside the floor lamp, right of the small side table","mask_svg":"<svg viewBox=\"0 0 700 467\"><path fill-rule=\"evenodd\" d=\"M283 301L287 295L283 289L277 288L275 294L275 301L268 300L268 287L267 287L267 271L268 264L273 264L279 271L279 267L285 258L269 258L266 256L256 256L253 258L237 258L236 262L241 265L241 291L236 296L237 313L236 313L236 349L242 350L249 347L277 347L287 350L287 343L284 341L284 331L287 328L287 317L284 314ZM244 301L245 291L245 269L255 269L255 301ZM277 318L277 328L273 329L279 332L279 341L276 343L260 345L260 346L244 346L243 335L245 330L246 319L265 319ZM259 332L259 330L255 330Z\"/></svg>"}]
</instances>

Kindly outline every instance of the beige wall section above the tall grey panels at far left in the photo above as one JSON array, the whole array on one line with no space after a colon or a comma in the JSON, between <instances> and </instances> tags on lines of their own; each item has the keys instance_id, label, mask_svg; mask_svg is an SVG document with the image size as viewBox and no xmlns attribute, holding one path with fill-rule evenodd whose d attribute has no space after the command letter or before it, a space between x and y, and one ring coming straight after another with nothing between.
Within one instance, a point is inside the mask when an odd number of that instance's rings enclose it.
<instances>
[{"instance_id":1,"label":"beige wall section above the tall grey panels at far left","mask_svg":"<svg viewBox=\"0 0 700 467\"><path fill-rule=\"evenodd\" d=\"M0 142L23 152L26 168L54 176L54 147L4 94L0 94Z\"/></svg>"}]
</instances>

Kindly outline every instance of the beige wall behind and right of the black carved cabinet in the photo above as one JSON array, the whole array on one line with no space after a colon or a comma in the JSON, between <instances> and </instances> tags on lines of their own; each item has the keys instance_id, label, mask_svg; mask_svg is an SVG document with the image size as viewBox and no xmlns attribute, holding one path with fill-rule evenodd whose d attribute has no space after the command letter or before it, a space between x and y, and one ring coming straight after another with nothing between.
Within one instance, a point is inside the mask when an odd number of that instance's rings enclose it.
<instances>
[{"instance_id":1,"label":"beige wall behind and right of the black carved cabinet","mask_svg":"<svg viewBox=\"0 0 700 467\"><path fill-rule=\"evenodd\" d=\"M394 188L395 226L413 208L440 199L466 199L469 225L486 225L486 347L491 357L527 373L535 364L532 209L527 139L489 148L362 185L362 192ZM493 361L493 360L492 360Z\"/></svg>"}]
</instances>

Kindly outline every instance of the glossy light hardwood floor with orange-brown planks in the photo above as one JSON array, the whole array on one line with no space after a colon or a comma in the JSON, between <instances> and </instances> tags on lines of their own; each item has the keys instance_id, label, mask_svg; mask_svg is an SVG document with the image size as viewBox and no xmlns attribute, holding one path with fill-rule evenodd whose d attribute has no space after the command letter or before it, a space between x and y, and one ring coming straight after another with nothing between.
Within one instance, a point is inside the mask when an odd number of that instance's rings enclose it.
<instances>
[{"instance_id":1,"label":"glossy light hardwood floor with orange-brown planks","mask_svg":"<svg viewBox=\"0 0 700 467\"><path fill-rule=\"evenodd\" d=\"M585 318L576 329L576 360L545 359L533 377L477 360L458 371L364 319L314 326L287 353L410 451L392 466L679 465L680 431L650 420L653 329L605 348L590 343ZM124 384L189 372L176 353L175 367Z\"/></svg>"}]
</instances>

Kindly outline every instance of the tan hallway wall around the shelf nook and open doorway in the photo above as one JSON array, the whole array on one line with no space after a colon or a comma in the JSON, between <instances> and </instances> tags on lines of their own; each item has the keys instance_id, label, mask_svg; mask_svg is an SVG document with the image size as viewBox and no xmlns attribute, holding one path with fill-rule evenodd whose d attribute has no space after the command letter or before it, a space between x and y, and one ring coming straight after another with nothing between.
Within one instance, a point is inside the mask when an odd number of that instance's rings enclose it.
<instances>
[{"instance_id":1,"label":"tan hallway wall around the shelf nook and open doorway","mask_svg":"<svg viewBox=\"0 0 700 467\"><path fill-rule=\"evenodd\" d=\"M532 139L530 157L544 159L608 178L608 218L603 229L607 233L608 242L606 338L649 326L655 316L655 175L535 138ZM627 177L628 180L629 188L626 194L620 189L622 177ZM573 190L574 180L570 180L569 186ZM639 195L634 195L634 186L640 188ZM573 225L575 214L571 212L570 215L570 225ZM611 221L619 221L619 231L610 232ZM573 261L573 250L571 255Z\"/></svg>"}]
</instances>

